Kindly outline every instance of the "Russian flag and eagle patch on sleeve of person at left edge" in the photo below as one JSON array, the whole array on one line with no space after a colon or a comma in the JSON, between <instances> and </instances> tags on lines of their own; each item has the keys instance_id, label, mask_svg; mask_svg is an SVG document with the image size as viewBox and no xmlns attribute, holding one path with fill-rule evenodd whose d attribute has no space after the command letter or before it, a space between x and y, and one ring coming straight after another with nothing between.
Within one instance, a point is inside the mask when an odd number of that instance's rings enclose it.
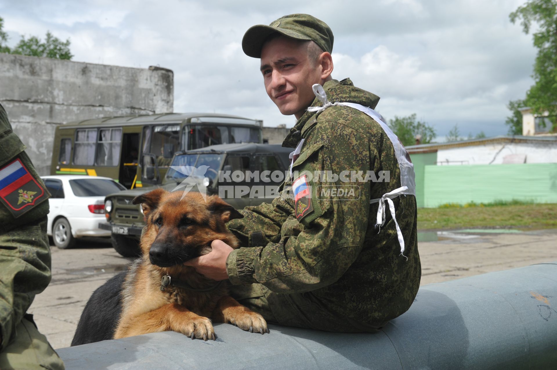
<instances>
[{"instance_id":1,"label":"Russian flag and eagle patch on sleeve of person at left edge","mask_svg":"<svg viewBox=\"0 0 557 370\"><path fill-rule=\"evenodd\" d=\"M20 159L0 168L0 201L14 217L47 200L47 195Z\"/></svg>"}]
</instances>

